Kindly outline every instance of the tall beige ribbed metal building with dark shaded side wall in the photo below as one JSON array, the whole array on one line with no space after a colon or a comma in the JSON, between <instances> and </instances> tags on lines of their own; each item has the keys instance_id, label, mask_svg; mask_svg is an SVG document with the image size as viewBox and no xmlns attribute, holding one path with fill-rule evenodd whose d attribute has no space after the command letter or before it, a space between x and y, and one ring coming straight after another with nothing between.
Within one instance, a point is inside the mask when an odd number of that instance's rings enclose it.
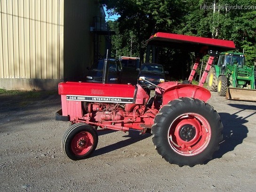
<instances>
[{"instance_id":1,"label":"tall beige ribbed metal building with dark shaded side wall","mask_svg":"<svg viewBox=\"0 0 256 192\"><path fill-rule=\"evenodd\" d=\"M0 0L0 88L57 89L110 45L100 0Z\"/></svg>"}]
</instances>

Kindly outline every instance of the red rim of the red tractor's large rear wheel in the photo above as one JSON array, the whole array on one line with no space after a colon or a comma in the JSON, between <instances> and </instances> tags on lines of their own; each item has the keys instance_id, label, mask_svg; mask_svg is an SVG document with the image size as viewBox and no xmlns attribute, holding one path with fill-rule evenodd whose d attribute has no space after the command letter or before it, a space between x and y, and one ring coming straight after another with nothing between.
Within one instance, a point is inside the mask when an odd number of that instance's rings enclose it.
<instances>
[{"instance_id":1,"label":"red rim of the red tractor's large rear wheel","mask_svg":"<svg viewBox=\"0 0 256 192\"><path fill-rule=\"evenodd\" d=\"M203 116L197 113L179 115L168 129L171 148L183 156L194 156L204 151L211 138L211 128Z\"/></svg>"}]
</instances>

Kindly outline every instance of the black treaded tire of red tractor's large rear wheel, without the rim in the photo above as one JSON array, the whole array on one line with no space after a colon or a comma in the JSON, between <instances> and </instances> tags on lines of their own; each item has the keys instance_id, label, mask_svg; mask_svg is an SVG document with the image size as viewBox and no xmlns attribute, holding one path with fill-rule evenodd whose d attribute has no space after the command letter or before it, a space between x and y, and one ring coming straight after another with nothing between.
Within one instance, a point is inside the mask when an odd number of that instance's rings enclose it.
<instances>
[{"instance_id":1,"label":"black treaded tire of red tractor's large rear wheel, without the rim","mask_svg":"<svg viewBox=\"0 0 256 192\"><path fill-rule=\"evenodd\" d=\"M164 112L165 115L162 115L162 117L160 118L161 125L152 128L152 133L155 134L155 137L153 137L153 143L157 147L158 145L160 145L159 143L161 143L158 152L168 162L175 163L181 166L193 166L195 164L202 164L206 159L211 159L213 152L218 149L218 144L220 140L218 137L220 136L220 130L218 130L219 128L216 126L218 124L216 123L216 120L220 119L216 111L214 111L213 108L208 104L205 104L200 100L186 101L190 98L183 99L185 100L185 102L169 103L170 106L168 107L168 112ZM168 130L171 123L177 118L177 116L188 112L196 113L200 116L203 116L208 121L211 128L211 138L207 147L204 149L204 151L194 156L184 156L178 154L171 148L168 142Z\"/></svg>"}]
</instances>

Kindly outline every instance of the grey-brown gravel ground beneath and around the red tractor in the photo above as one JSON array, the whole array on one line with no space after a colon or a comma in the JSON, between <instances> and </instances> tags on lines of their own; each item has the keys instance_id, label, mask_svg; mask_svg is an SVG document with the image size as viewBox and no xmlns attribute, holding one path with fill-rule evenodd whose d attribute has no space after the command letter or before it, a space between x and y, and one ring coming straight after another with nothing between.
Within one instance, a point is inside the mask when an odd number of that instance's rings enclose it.
<instances>
[{"instance_id":1,"label":"grey-brown gravel ground beneath and around the red tractor","mask_svg":"<svg viewBox=\"0 0 256 192\"><path fill-rule=\"evenodd\" d=\"M212 94L224 140L205 165L178 167L161 159L149 134L101 132L92 157L61 152L68 122L56 121L60 96L0 95L1 192L254 192L256 103Z\"/></svg>"}]
</instances>

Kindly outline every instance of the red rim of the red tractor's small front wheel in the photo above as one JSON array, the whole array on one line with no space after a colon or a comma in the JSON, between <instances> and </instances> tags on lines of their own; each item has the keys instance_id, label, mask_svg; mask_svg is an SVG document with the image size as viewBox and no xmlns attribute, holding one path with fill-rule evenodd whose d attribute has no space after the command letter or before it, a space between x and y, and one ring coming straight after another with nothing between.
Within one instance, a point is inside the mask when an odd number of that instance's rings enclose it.
<instances>
[{"instance_id":1,"label":"red rim of the red tractor's small front wheel","mask_svg":"<svg viewBox=\"0 0 256 192\"><path fill-rule=\"evenodd\" d=\"M93 142L92 134L87 131L80 132L72 140L72 152L75 155L84 155L92 148Z\"/></svg>"}]
</instances>

